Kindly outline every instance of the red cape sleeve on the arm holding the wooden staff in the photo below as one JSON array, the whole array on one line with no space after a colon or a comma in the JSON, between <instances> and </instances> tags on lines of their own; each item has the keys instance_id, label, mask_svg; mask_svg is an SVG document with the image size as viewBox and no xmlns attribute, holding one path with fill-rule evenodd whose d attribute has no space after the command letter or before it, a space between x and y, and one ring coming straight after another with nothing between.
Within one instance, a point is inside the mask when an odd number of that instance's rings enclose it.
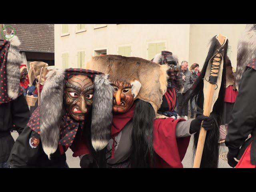
<instances>
[{"instance_id":1,"label":"red cape sleeve on the arm holding the wooden staff","mask_svg":"<svg viewBox=\"0 0 256 192\"><path fill-rule=\"evenodd\" d=\"M183 160L189 137L176 138L176 125L184 119L173 118L154 120L154 151L156 152L156 167L183 168Z\"/></svg>"}]
</instances>

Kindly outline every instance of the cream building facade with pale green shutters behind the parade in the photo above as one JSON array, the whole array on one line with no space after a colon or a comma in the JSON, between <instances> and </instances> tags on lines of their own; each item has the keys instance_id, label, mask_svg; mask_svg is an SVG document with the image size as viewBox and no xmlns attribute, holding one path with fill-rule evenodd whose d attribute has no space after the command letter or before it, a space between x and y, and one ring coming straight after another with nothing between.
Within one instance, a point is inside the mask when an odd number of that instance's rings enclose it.
<instances>
[{"instance_id":1,"label":"cream building facade with pale green shutters behind the parade","mask_svg":"<svg viewBox=\"0 0 256 192\"><path fill-rule=\"evenodd\" d=\"M86 60L120 54L151 60L168 50L179 61L204 63L210 39L222 33L229 39L228 56L236 68L237 43L245 24L55 24L56 68L84 68Z\"/></svg>"}]
</instances>

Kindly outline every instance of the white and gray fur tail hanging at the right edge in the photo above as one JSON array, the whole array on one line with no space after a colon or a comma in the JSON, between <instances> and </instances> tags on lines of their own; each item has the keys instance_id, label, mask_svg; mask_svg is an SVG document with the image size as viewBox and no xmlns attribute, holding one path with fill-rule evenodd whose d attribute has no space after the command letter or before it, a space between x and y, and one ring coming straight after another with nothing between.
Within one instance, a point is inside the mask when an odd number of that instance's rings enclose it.
<instances>
[{"instance_id":1,"label":"white and gray fur tail hanging at the right edge","mask_svg":"<svg viewBox=\"0 0 256 192\"><path fill-rule=\"evenodd\" d=\"M256 58L256 24L247 24L237 46L235 85L238 90L246 65Z\"/></svg>"}]
</instances>

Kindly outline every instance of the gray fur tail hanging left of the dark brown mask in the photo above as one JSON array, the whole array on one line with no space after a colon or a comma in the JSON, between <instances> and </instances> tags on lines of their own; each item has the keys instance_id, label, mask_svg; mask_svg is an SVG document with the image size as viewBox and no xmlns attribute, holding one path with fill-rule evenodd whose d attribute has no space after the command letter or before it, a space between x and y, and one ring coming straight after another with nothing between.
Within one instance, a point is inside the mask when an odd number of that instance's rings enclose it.
<instances>
[{"instance_id":1,"label":"gray fur tail hanging left of the dark brown mask","mask_svg":"<svg viewBox=\"0 0 256 192\"><path fill-rule=\"evenodd\" d=\"M48 158L58 148L60 122L63 110L65 70L54 69L48 72L40 97L40 137ZM51 114L51 115L49 115Z\"/></svg>"}]
</instances>

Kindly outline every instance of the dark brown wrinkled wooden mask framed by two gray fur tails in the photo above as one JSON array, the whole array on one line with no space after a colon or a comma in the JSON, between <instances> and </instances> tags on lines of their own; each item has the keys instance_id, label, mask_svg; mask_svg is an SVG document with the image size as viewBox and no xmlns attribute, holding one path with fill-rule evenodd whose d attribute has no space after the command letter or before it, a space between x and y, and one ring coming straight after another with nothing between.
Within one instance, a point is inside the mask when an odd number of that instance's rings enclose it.
<instances>
[{"instance_id":1,"label":"dark brown wrinkled wooden mask framed by two gray fur tails","mask_svg":"<svg viewBox=\"0 0 256 192\"><path fill-rule=\"evenodd\" d=\"M77 121L85 120L92 110L94 84L84 75L73 76L66 83L66 110Z\"/></svg>"}]
</instances>

